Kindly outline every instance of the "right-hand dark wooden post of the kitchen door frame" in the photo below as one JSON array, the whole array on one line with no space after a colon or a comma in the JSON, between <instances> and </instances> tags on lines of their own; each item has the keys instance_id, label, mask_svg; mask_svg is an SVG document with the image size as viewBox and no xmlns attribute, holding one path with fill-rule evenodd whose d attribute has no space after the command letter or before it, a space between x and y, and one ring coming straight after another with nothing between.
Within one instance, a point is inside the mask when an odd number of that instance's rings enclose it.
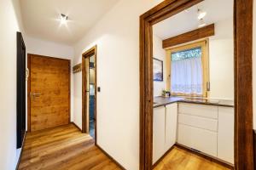
<instances>
[{"instance_id":1,"label":"right-hand dark wooden post of the kitchen door frame","mask_svg":"<svg viewBox=\"0 0 256 170\"><path fill-rule=\"evenodd\" d=\"M253 170L253 0L235 0L234 37L235 168Z\"/></svg>"}]
</instances>

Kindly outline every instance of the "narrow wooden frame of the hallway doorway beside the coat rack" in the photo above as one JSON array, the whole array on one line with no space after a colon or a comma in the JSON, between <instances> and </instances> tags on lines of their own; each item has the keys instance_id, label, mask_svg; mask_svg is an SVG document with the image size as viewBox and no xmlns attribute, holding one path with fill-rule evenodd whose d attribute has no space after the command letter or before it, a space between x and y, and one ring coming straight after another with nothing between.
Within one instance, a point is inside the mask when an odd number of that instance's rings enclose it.
<instances>
[{"instance_id":1,"label":"narrow wooden frame of the hallway doorway beside the coat rack","mask_svg":"<svg viewBox=\"0 0 256 170\"><path fill-rule=\"evenodd\" d=\"M96 143L96 139L97 139L97 131L96 131L96 116L97 116L97 47L94 46L92 48L90 48L89 50L85 51L84 54L82 54L82 133L89 133L89 129L88 129L88 125L89 122L87 120L87 116L89 116L89 113L87 114L87 105L86 102L86 84L87 84L87 74L86 74L86 69L85 69L85 59L95 55L95 143Z\"/></svg>"}]
</instances>

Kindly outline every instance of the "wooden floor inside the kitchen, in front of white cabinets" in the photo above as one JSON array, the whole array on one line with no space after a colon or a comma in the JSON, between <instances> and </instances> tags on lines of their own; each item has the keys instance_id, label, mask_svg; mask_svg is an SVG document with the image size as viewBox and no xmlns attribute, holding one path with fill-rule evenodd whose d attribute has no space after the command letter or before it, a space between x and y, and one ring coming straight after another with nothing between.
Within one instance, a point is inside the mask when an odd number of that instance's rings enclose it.
<instances>
[{"instance_id":1,"label":"wooden floor inside the kitchen, in front of white cabinets","mask_svg":"<svg viewBox=\"0 0 256 170\"><path fill-rule=\"evenodd\" d=\"M154 170L227 170L228 168L208 161L176 146L154 167Z\"/></svg>"}]
</instances>

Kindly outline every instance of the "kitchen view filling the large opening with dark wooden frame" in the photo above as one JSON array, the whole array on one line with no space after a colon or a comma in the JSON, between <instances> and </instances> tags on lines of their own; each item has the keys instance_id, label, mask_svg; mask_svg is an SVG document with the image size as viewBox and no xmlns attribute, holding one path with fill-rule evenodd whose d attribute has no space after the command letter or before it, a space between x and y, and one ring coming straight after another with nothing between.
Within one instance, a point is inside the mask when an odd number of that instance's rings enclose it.
<instances>
[{"instance_id":1,"label":"kitchen view filling the large opening with dark wooden frame","mask_svg":"<svg viewBox=\"0 0 256 170\"><path fill-rule=\"evenodd\" d=\"M233 3L205 0L153 26L156 169L234 166Z\"/></svg>"}]
</instances>

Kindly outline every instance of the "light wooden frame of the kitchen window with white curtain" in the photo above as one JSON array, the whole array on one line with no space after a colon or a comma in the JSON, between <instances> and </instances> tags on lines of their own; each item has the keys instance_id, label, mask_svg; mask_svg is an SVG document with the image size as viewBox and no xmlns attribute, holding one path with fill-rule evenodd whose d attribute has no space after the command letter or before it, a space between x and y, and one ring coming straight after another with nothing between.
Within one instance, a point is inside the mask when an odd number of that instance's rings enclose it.
<instances>
[{"instance_id":1,"label":"light wooden frame of the kitchen window with white curtain","mask_svg":"<svg viewBox=\"0 0 256 170\"><path fill-rule=\"evenodd\" d=\"M177 53L179 51L188 50L191 48L201 48L201 59L202 59L202 94L182 94L182 93L172 93L172 53ZM210 93L209 87L207 85L209 82L209 40L204 39L197 42L189 42L182 45L178 45L172 48L166 48L166 89L171 92L171 95L176 96L187 96L187 97L204 97L207 98Z\"/></svg>"}]
</instances>

